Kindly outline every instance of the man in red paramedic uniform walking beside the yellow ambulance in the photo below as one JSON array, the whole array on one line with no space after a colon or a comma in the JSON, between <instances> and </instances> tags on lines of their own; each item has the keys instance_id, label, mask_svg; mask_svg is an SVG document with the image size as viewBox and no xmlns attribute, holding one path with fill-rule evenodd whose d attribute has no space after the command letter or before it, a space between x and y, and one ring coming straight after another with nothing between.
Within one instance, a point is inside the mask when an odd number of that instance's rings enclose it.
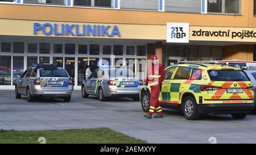
<instances>
[{"instance_id":1,"label":"man in red paramedic uniform walking beside the yellow ambulance","mask_svg":"<svg viewBox=\"0 0 256 155\"><path fill-rule=\"evenodd\" d=\"M147 85L151 88L150 94L150 110L148 114L144 115L146 118L152 118L152 114L155 109L158 112L154 118L163 118L163 112L159 104L159 94L162 87L162 82L164 81L164 67L162 64L159 64L158 58L156 56L151 56L151 63L148 63L147 67L147 78L144 86L144 90L147 90Z\"/></svg>"}]
</instances>

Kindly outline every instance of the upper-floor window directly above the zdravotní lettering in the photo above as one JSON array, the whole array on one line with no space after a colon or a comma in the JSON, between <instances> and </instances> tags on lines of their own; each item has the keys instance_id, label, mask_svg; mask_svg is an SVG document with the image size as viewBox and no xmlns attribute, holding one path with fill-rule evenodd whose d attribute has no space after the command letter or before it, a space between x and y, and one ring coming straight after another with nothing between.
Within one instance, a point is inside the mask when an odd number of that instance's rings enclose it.
<instances>
[{"instance_id":1,"label":"upper-floor window directly above the zdravotn\u00ed lettering","mask_svg":"<svg viewBox=\"0 0 256 155\"><path fill-rule=\"evenodd\" d=\"M208 0L208 12L241 14L241 0Z\"/></svg>"}]
</instances>

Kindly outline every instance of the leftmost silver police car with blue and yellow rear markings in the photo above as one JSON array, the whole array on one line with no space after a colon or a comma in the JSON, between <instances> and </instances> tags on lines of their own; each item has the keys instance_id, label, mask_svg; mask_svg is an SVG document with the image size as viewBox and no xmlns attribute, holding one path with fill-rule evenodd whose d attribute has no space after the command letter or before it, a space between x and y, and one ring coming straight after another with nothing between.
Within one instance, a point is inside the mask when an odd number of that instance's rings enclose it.
<instances>
[{"instance_id":1,"label":"leftmost silver police car with blue and yellow rear markings","mask_svg":"<svg viewBox=\"0 0 256 155\"><path fill-rule=\"evenodd\" d=\"M36 97L63 98L65 102L71 100L73 81L63 68L56 64L32 64L15 84L15 97L27 96L32 102Z\"/></svg>"}]
</instances>

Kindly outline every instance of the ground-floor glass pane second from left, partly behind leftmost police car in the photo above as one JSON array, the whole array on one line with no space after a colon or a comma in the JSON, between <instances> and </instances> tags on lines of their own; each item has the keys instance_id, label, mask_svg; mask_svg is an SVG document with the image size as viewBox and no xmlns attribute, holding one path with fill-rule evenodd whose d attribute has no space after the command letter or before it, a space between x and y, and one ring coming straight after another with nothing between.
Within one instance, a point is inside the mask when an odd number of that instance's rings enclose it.
<instances>
[{"instance_id":1,"label":"ground-floor glass pane second from left, partly behind leftmost police car","mask_svg":"<svg viewBox=\"0 0 256 155\"><path fill-rule=\"evenodd\" d=\"M24 57L13 56L13 85L15 85L18 76L21 76L24 72Z\"/></svg>"}]
</instances>

